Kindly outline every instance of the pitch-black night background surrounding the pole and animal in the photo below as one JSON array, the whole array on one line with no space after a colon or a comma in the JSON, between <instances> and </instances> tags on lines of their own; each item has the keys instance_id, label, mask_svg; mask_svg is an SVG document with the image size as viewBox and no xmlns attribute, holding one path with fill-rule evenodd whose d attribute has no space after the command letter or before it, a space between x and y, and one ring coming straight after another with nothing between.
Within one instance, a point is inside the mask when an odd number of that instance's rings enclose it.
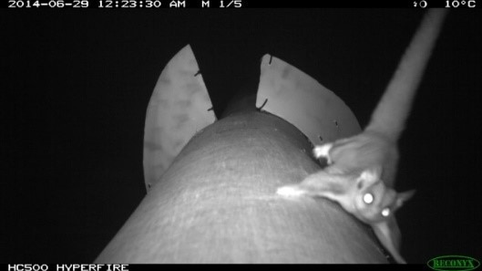
<instances>
[{"instance_id":1,"label":"pitch-black night background surrounding the pole and animal","mask_svg":"<svg viewBox=\"0 0 482 271\"><path fill-rule=\"evenodd\" d=\"M216 113L263 54L333 90L362 127L420 10L0 11L0 262L91 262L145 195L149 98L190 44ZM482 258L482 13L449 14L400 141L402 255ZM245 88L245 89L243 89ZM274 192L273 192L274 193Z\"/></svg>"}]
</instances>

